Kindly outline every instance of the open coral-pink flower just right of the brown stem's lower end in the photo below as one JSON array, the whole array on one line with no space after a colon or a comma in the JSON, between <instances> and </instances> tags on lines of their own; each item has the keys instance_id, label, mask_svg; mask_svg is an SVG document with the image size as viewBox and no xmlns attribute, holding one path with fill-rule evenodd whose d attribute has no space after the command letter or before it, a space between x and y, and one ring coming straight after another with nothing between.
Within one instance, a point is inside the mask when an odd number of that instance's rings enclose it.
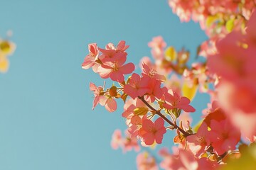
<instances>
[{"instance_id":1,"label":"open coral-pink flower just right of the brown stem's lower end","mask_svg":"<svg viewBox=\"0 0 256 170\"><path fill-rule=\"evenodd\" d=\"M215 152L221 155L228 150L235 149L235 146L240 141L240 130L235 128L228 120L220 122L211 120L208 139L212 143L211 145Z\"/></svg>"}]
</instances>

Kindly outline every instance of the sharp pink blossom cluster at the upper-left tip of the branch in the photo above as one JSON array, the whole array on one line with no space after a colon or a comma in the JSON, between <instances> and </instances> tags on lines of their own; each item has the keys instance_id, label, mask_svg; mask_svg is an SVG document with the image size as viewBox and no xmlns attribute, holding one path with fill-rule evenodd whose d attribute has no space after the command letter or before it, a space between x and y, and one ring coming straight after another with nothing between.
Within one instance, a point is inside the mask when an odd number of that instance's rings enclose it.
<instances>
[{"instance_id":1,"label":"sharp pink blossom cluster at the upper-left tip of the branch","mask_svg":"<svg viewBox=\"0 0 256 170\"><path fill-rule=\"evenodd\" d=\"M124 64L127 60L127 50L129 46L124 41L120 41L117 47L112 43L106 45L105 49L97 47L96 43L88 45L89 55L82 63L82 69L92 67L93 71L100 74L102 79L110 78L113 81L122 83L124 74L134 71L134 64L131 62Z\"/></svg>"}]
</instances>

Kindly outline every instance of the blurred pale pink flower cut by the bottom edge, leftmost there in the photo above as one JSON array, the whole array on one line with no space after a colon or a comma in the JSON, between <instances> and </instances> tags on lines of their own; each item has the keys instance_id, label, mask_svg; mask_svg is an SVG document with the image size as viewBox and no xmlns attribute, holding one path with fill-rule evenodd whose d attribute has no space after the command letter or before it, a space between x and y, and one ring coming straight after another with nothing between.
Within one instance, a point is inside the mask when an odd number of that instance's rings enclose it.
<instances>
[{"instance_id":1,"label":"blurred pale pink flower cut by the bottom edge, leftmost there","mask_svg":"<svg viewBox=\"0 0 256 170\"><path fill-rule=\"evenodd\" d=\"M156 159L147 152L138 154L136 161L138 170L158 170Z\"/></svg>"}]
</instances>

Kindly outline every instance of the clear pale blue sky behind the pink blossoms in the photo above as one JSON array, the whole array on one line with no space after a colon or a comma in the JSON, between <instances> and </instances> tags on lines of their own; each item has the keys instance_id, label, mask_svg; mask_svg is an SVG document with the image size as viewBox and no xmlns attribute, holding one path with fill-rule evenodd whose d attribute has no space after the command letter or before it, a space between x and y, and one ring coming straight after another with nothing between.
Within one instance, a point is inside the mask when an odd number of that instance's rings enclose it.
<instances>
[{"instance_id":1,"label":"clear pale blue sky behind the pink blossoms","mask_svg":"<svg viewBox=\"0 0 256 170\"><path fill-rule=\"evenodd\" d=\"M126 40L127 61L138 64L150 56L154 36L192 55L206 40L197 23L181 24L167 1L10 0L1 1L0 16L1 37L10 29L17 45L9 72L0 74L3 170L136 169L134 152L110 147L112 132L125 129L122 107L91 111L90 81L103 81L81 69L87 44ZM195 117L205 103L193 101Z\"/></svg>"}]
</instances>

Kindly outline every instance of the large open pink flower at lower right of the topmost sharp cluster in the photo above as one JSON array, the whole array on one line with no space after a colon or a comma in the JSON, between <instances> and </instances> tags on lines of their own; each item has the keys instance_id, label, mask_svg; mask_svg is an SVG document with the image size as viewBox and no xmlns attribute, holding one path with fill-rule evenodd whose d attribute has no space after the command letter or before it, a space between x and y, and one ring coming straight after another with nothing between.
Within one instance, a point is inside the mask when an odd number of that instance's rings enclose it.
<instances>
[{"instance_id":1,"label":"large open pink flower at lower right of the topmost sharp cluster","mask_svg":"<svg viewBox=\"0 0 256 170\"><path fill-rule=\"evenodd\" d=\"M118 81L122 83L124 81L124 74L130 74L134 71L135 66L131 62L124 64L126 57L122 55L116 55L114 57L114 62L107 61L104 62L100 67L98 67L97 72L100 77L107 79L110 77L113 81Z\"/></svg>"}]
</instances>

